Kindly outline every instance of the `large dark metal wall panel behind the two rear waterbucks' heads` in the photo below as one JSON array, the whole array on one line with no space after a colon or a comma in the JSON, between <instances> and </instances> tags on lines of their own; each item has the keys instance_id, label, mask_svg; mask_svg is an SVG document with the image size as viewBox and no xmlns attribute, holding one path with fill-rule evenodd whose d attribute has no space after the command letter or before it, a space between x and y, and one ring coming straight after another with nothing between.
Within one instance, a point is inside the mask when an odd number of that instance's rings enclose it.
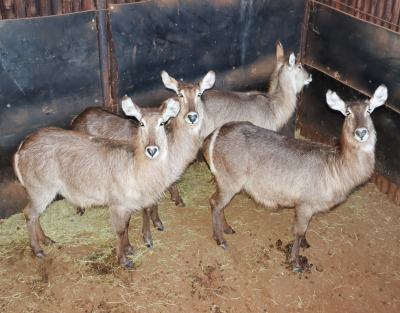
<instances>
[{"instance_id":1,"label":"large dark metal wall panel behind the two rear waterbucks' heads","mask_svg":"<svg viewBox=\"0 0 400 313\"><path fill-rule=\"evenodd\" d=\"M215 88L267 90L275 42L299 52L302 0L147 1L110 5L119 70L119 97L139 106L171 95L161 71L199 81L209 70Z\"/></svg>"}]
</instances>

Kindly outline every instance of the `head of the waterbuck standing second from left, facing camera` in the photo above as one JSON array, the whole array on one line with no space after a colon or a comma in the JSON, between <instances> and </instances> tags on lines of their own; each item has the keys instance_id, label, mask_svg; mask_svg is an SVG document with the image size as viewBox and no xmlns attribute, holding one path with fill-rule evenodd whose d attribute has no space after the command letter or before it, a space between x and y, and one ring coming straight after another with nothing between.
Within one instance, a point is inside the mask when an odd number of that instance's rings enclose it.
<instances>
[{"instance_id":1,"label":"head of the waterbuck standing second from left, facing camera","mask_svg":"<svg viewBox=\"0 0 400 313\"><path fill-rule=\"evenodd\" d=\"M195 127L197 130L201 128L203 121L204 104L201 96L206 89L210 89L215 82L215 73L209 71L206 76L198 83L178 83L173 77L169 76L166 71L162 71L161 77L164 86L172 89L178 96L181 105L181 114L185 122Z\"/></svg>"}]
</instances>

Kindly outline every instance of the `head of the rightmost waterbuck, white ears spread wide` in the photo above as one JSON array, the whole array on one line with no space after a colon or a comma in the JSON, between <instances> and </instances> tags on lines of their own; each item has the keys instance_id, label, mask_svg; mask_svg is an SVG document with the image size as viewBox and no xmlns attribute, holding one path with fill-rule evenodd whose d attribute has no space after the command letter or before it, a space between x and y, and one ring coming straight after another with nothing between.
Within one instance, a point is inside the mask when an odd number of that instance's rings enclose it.
<instances>
[{"instance_id":1,"label":"head of the rightmost waterbuck, white ears spread wide","mask_svg":"<svg viewBox=\"0 0 400 313\"><path fill-rule=\"evenodd\" d=\"M342 112L346 116L343 135L347 136L348 139L352 137L357 142L374 145L375 128L370 114L375 108L386 102L387 95L386 86L381 85L369 101L344 102L336 92L328 90L326 93L326 102L331 109Z\"/></svg>"}]
</instances>

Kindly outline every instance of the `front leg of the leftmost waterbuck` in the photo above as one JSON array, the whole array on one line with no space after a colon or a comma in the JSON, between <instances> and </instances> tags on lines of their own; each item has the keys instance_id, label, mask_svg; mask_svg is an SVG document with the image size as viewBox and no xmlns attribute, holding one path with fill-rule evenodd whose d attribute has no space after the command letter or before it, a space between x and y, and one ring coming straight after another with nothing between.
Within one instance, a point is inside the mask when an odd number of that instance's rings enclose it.
<instances>
[{"instance_id":1,"label":"front leg of the leftmost waterbuck","mask_svg":"<svg viewBox=\"0 0 400 313\"><path fill-rule=\"evenodd\" d=\"M124 251L124 244L126 243L126 209L118 206L110 206L108 211L110 212L111 225L117 237L116 254L119 264L125 267L132 267Z\"/></svg>"}]
</instances>

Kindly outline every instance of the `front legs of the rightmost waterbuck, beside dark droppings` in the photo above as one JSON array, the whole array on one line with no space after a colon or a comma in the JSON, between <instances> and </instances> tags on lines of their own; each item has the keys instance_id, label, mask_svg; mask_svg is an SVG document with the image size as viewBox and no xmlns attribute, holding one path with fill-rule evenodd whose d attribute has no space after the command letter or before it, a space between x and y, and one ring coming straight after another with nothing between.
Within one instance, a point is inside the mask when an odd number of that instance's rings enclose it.
<instances>
[{"instance_id":1,"label":"front legs of the rightmost waterbuck, beside dark droppings","mask_svg":"<svg viewBox=\"0 0 400 313\"><path fill-rule=\"evenodd\" d=\"M292 253L290 255L290 262L293 265L293 271L302 273L303 270L299 263L299 251L300 247L307 247L308 242L305 239L308 224L313 216L313 210L310 207L299 206L295 209L295 220L293 224L294 243L292 247Z\"/></svg>"}]
</instances>

